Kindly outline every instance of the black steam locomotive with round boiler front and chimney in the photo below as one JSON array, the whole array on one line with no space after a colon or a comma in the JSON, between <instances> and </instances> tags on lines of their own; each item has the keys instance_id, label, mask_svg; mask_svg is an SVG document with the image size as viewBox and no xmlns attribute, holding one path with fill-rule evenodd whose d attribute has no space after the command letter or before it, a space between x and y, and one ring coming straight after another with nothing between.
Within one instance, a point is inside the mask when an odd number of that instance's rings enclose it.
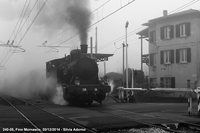
<instances>
[{"instance_id":1,"label":"black steam locomotive with round boiler front and chimney","mask_svg":"<svg viewBox=\"0 0 200 133\"><path fill-rule=\"evenodd\" d=\"M46 76L56 77L62 85L63 97L69 103L100 104L110 92L110 86L98 77L97 62L88 57L87 45L75 49L64 58L46 62Z\"/></svg>"}]
</instances>

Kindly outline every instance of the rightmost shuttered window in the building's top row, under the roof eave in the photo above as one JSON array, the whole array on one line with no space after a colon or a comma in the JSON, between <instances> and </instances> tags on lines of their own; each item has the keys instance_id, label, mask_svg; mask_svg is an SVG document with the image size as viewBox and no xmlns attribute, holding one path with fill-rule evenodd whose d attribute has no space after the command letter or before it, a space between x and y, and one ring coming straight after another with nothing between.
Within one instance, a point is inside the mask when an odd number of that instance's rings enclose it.
<instances>
[{"instance_id":1,"label":"rightmost shuttered window in the building's top row, under the roof eave","mask_svg":"<svg viewBox=\"0 0 200 133\"><path fill-rule=\"evenodd\" d=\"M190 36L190 23L181 23L176 25L176 37Z\"/></svg>"}]
</instances>

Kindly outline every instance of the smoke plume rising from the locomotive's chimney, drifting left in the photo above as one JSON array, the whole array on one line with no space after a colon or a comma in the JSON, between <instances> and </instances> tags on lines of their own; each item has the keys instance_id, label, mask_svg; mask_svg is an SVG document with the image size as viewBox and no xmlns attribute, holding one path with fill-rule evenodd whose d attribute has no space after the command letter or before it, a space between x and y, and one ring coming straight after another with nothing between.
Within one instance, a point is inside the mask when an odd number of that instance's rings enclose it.
<instances>
[{"instance_id":1,"label":"smoke plume rising from the locomotive's chimney, drifting left","mask_svg":"<svg viewBox=\"0 0 200 133\"><path fill-rule=\"evenodd\" d=\"M79 33L81 43L86 43L91 24L89 0L49 1L35 25L48 34L55 34L70 26Z\"/></svg>"}]
</instances>

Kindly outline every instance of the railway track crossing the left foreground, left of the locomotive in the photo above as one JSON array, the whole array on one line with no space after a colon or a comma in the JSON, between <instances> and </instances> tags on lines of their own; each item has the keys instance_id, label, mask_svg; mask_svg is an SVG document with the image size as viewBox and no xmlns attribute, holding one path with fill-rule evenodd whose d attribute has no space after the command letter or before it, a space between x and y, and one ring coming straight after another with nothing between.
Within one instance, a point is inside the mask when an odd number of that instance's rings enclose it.
<instances>
[{"instance_id":1,"label":"railway track crossing the left foreground, left of the locomotive","mask_svg":"<svg viewBox=\"0 0 200 133\"><path fill-rule=\"evenodd\" d=\"M9 128L2 128L7 132L71 132L79 131L86 133L96 133L95 129L90 129L82 124L66 119L57 114L51 113L32 103L10 96L0 95L0 101L6 106L11 106L23 118L25 125Z\"/></svg>"}]
</instances>

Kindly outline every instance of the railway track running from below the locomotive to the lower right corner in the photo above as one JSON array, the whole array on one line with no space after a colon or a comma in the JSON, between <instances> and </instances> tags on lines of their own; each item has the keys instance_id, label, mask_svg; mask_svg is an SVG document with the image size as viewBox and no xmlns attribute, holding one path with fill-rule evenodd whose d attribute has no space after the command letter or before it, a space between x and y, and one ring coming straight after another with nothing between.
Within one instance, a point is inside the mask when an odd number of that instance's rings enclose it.
<instances>
[{"instance_id":1,"label":"railway track running from below the locomotive to the lower right corner","mask_svg":"<svg viewBox=\"0 0 200 133\"><path fill-rule=\"evenodd\" d=\"M88 108L88 109L93 110L93 111L98 110L96 108L95 109ZM165 117L141 114L141 113L126 111L126 110L121 110L121 109L116 109L116 108L110 108L110 107L104 108L103 110L101 108L98 110L98 112L113 115L116 117L126 118L128 120L132 120L133 122L140 123L144 127L147 126L147 127L160 128L165 131L173 132L173 133L180 133L180 130L182 130L181 129L182 127L187 127L188 130L191 129L195 132L200 131L200 125L185 122L182 120L172 120Z\"/></svg>"}]
</instances>

